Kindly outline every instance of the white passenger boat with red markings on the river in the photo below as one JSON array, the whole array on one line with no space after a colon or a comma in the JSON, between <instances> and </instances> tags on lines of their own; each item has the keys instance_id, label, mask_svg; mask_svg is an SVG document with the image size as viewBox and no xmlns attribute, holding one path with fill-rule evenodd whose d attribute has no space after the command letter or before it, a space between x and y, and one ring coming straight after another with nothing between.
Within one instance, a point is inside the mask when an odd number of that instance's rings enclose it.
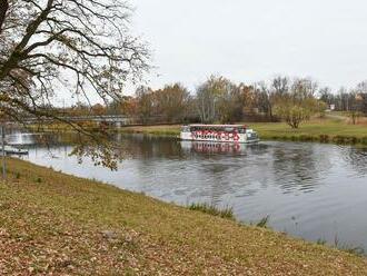
<instances>
[{"instance_id":1,"label":"white passenger boat with red markings on the river","mask_svg":"<svg viewBox=\"0 0 367 276\"><path fill-rule=\"evenodd\" d=\"M244 125L182 126L181 140L254 144L260 139L256 131Z\"/></svg>"}]
</instances>

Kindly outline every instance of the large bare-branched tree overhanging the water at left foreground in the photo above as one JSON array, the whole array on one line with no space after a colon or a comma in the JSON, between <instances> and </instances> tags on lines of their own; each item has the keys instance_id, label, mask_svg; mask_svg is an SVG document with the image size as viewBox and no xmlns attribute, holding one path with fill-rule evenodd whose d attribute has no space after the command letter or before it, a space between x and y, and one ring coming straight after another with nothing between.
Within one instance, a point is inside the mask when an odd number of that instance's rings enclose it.
<instances>
[{"instance_id":1,"label":"large bare-branched tree overhanging the water at left foreground","mask_svg":"<svg viewBox=\"0 0 367 276\"><path fill-rule=\"evenodd\" d=\"M0 109L22 122L24 116L63 121L93 139L78 124L57 112L58 91L89 102L121 96L127 81L149 69L149 53L129 33L131 9L123 0L1 0ZM80 147L96 162L111 154ZM110 165L105 159L103 165Z\"/></svg>"}]
</instances>

